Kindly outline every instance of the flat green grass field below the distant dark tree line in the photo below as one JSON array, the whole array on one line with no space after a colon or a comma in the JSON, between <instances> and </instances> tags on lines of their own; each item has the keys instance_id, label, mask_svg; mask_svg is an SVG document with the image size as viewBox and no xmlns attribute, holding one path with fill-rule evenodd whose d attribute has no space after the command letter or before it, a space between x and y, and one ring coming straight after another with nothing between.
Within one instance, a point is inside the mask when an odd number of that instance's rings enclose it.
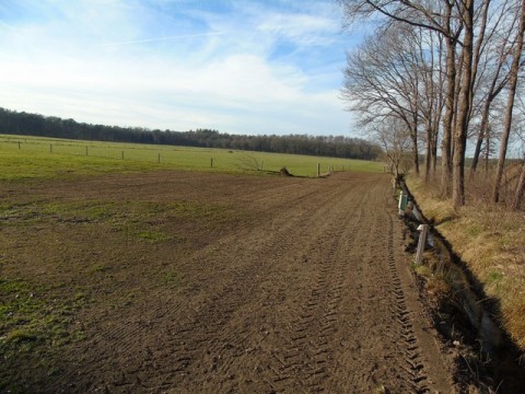
<instances>
[{"instance_id":1,"label":"flat green grass field below the distant dark tree line","mask_svg":"<svg viewBox=\"0 0 525 394\"><path fill-rule=\"evenodd\" d=\"M316 176L317 164L322 174L330 169L383 172L382 163L362 160L0 135L0 181L168 169L277 172L283 166L293 175Z\"/></svg>"}]
</instances>

